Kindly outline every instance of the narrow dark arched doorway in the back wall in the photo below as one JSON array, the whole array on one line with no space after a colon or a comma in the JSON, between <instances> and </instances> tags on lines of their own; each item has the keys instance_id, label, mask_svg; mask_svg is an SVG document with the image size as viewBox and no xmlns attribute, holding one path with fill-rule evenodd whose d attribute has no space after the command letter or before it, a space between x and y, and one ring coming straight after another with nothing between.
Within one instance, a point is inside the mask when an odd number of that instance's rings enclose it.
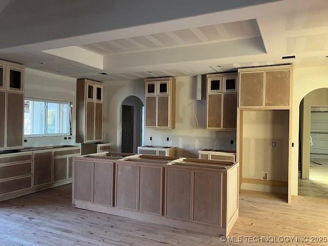
<instances>
[{"instance_id":1,"label":"narrow dark arched doorway in the back wall","mask_svg":"<svg viewBox=\"0 0 328 246\"><path fill-rule=\"evenodd\" d=\"M122 101L121 111L121 152L137 153L141 146L144 104L136 96L128 96Z\"/></svg>"}]
</instances>

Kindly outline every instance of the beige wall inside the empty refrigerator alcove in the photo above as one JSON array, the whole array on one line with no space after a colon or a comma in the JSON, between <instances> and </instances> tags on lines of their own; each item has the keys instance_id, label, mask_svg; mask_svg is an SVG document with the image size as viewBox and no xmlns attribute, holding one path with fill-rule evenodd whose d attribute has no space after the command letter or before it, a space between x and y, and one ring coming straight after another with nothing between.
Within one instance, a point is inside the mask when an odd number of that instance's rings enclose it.
<instances>
[{"instance_id":1,"label":"beige wall inside the empty refrigerator alcove","mask_svg":"<svg viewBox=\"0 0 328 246\"><path fill-rule=\"evenodd\" d=\"M242 132L242 177L261 179L262 172L268 172L268 180L287 182L289 111L245 111ZM286 189L255 183L242 183L241 188L286 193Z\"/></svg>"}]
</instances>

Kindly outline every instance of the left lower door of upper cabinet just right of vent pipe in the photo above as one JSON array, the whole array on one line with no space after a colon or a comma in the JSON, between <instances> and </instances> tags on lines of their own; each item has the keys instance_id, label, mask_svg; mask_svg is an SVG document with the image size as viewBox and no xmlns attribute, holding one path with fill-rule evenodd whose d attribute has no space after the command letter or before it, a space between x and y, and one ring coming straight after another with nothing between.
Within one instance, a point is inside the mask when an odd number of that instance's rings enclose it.
<instances>
[{"instance_id":1,"label":"left lower door of upper cabinet just right of vent pipe","mask_svg":"<svg viewBox=\"0 0 328 246\"><path fill-rule=\"evenodd\" d=\"M222 128L222 94L208 94L207 128Z\"/></svg>"}]
</instances>

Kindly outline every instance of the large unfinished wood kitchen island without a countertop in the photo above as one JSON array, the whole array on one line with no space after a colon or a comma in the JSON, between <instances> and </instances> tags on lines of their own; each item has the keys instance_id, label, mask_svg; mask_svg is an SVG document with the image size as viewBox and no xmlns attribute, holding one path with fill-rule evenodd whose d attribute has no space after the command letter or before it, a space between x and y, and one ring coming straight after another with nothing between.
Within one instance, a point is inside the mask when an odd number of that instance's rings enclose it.
<instances>
[{"instance_id":1,"label":"large unfinished wood kitchen island without a countertop","mask_svg":"<svg viewBox=\"0 0 328 246\"><path fill-rule=\"evenodd\" d=\"M75 208L227 236L238 218L239 164L108 153L74 157Z\"/></svg>"}]
</instances>

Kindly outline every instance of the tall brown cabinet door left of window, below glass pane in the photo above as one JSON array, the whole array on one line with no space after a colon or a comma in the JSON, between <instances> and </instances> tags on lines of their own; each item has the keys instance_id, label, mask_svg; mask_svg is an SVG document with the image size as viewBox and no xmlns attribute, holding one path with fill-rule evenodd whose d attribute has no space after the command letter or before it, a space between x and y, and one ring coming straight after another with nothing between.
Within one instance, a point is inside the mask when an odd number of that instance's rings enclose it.
<instances>
[{"instance_id":1,"label":"tall brown cabinet door left of window, below glass pane","mask_svg":"<svg viewBox=\"0 0 328 246\"><path fill-rule=\"evenodd\" d=\"M7 94L7 147L23 146L24 94Z\"/></svg>"}]
</instances>

